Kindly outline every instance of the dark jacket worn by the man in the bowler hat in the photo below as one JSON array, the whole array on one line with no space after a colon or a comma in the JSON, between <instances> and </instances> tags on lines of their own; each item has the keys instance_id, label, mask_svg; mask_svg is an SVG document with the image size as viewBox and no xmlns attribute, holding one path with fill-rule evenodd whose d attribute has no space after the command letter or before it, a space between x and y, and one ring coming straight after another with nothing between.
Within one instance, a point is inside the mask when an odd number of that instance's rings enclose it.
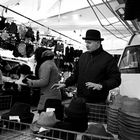
<instances>
[{"instance_id":1,"label":"dark jacket worn by the man in the bowler hat","mask_svg":"<svg viewBox=\"0 0 140 140\"><path fill-rule=\"evenodd\" d=\"M88 89L86 82L101 84L103 88ZM109 90L120 83L121 75L115 58L102 46L93 52L83 53L74 73L65 81L66 86L77 84L77 96L84 97L89 103L105 103Z\"/></svg>"}]
</instances>

